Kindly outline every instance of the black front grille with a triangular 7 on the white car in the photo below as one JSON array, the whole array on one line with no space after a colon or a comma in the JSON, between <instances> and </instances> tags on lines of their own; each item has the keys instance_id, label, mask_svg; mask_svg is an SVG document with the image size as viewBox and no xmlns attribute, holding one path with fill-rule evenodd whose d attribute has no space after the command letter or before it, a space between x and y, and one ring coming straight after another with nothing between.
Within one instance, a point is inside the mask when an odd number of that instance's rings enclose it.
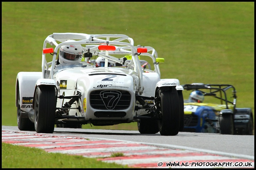
<instances>
[{"instance_id":1,"label":"black front grille with a triangular 7 on the white car","mask_svg":"<svg viewBox=\"0 0 256 170\"><path fill-rule=\"evenodd\" d=\"M92 108L108 111L127 109L130 106L131 95L123 90L96 90L90 94Z\"/></svg>"}]
</instances>

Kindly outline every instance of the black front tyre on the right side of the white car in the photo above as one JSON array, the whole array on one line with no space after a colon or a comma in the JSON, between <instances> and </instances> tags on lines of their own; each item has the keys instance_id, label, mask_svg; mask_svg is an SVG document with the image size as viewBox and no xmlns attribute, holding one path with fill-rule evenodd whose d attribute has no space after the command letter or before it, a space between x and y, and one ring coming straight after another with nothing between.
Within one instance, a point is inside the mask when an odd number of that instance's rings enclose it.
<instances>
[{"instance_id":1,"label":"black front tyre on the right side of the white car","mask_svg":"<svg viewBox=\"0 0 256 170\"><path fill-rule=\"evenodd\" d=\"M180 129L180 105L175 86L169 90L160 87L158 98L161 109L158 115L161 119L158 120L159 132L163 136L175 136Z\"/></svg>"}]
</instances>

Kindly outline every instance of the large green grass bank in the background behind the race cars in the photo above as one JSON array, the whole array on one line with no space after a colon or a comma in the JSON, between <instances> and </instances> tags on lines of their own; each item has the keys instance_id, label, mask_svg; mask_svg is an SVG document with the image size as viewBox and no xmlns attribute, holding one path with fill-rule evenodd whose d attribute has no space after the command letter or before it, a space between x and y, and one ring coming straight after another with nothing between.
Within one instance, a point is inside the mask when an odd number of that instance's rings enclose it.
<instances>
[{"instance_id":1,"label":"large green grass bank in the background behind the race cars","mask_svg":"<svg viewBox=\"0 0 256 170\"><path fill-rule=\"evenodd\" d=\"M17 73L40 72L44 39L61 32L126 34L165 58L161 78L234 85L254 113L254 2L2 2L2 125L17 126Z\"/></svg>"}]
</instances>

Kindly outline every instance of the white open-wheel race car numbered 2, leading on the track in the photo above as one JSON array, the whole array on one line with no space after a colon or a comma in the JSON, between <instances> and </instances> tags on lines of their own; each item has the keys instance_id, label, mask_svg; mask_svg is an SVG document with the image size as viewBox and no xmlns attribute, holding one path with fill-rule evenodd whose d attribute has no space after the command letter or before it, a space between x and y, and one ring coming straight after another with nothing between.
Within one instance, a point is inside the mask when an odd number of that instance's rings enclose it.
<instances>
[{"instance_id":1,"label":"white open-wheel race car numbered 2, leading on the track","mask_svg":"<svg viewBox=\"0 0 256 170\"><path fill-rule=\"evenodd\" d=\"M57 127L108 126L138 122L142 134L174 136L183 128L183 87L178 79L160 79L155 49L134 46L122 34L53 33L43 44L42 72L16 78L20 130L53 133ZM82 46L81 61L59 62L62 46ZM152 53L148 53L152 51ZM141 67L149 56L154 69ZM90 64L102 57L105 64ZM50 61L49 61L50 59ZM109 63L112 63L110 65ZM150 66L150 65L148 65Z\"/></svg>"}]
</instances>

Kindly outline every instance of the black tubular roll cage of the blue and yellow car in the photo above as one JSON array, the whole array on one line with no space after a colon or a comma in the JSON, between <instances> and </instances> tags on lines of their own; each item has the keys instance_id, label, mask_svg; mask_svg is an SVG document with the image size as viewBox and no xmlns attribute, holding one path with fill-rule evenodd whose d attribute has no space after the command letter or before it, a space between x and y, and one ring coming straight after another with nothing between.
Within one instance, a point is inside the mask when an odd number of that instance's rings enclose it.
<instances>
[{"instance_id":1,"label":"black tubular roll cage of the blue and yellow car","mask_svg":"<svg viewBox=\"0 0 256 170\"><path fill-rule=\"evenodd\" d=\"M228 103L231 103L234 105L234 111L236 106L236 90L235 87L229 84L203 84L203 83L192 83L192 84L184 84L181 85L184 90L199 90L201 91L204 96L213 96L214 98L218 98L221 101L221 104L223 104L223 101L225 102L226 109L229 109ZM226 96L226 90L232 88L232 98L234 98L233 102L229 101ZM206 92L206 90L201 89L207 89L210 92ZM214 90L214 91L212 91ZM219 92L220 97L217 96L217 93ZM222 97L224 95L224 97Z\"/></svg>"}]
</instances>

